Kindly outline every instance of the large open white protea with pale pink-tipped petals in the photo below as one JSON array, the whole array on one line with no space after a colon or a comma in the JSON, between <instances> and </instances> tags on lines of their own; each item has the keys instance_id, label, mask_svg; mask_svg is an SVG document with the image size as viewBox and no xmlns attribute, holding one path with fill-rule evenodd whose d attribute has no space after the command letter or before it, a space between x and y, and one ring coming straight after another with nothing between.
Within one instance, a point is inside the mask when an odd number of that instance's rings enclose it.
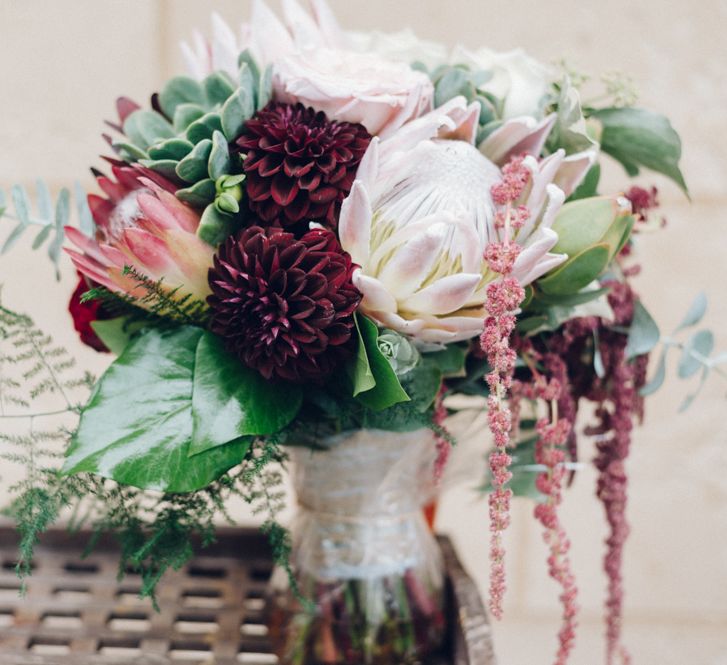
<instances>
[{"instance_id":1,"label":"large open white protea with pale pink-tipped petals","mask_svg":"<svg viewBox=\"0 0 727 665\"><path fill-rule=\"evenodd\" d=\"M498 278L484 260L501 239L491 188L500 165L527 154L530 172L518 203L529 214L510 238L522 246L513 275L525 285L562 263L550 249L555 214L594 155L538 159L554 118L505 123L474 146L479 105L458 97L391 138L375 138L339 220L341 245L360 268L361 309L381 325L423 344L482 332L487 285ZM555 184L560 183L560 186Z\"/></svg>"}]
</instances>

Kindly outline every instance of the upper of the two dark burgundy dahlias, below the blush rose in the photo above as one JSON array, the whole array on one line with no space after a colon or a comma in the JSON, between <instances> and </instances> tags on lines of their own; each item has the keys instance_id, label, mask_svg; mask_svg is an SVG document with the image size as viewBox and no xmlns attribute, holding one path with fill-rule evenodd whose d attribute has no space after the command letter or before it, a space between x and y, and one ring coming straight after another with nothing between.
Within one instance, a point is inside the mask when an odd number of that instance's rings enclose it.
<instances>
[{"instance_id":1,"label":"upper of the two dark burgundy dahlias, below the blush rose","mask_svg":"<svg viewBox=\"0 0 727 665\"><path fill-rule=\"evenodd\" d=\"M335 229L371 135L302 104L270 103L245 125L237 145L250 209L265 225L318 222Z\"/></svg>"}]
</instances>

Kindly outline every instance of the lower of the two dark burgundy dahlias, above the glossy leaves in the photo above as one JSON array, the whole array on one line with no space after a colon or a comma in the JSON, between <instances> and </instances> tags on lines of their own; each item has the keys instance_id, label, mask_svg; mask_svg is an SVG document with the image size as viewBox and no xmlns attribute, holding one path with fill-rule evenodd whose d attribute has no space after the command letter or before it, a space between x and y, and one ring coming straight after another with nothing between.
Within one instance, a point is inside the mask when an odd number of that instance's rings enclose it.
<instances>
[{"instance_id":1,"label":"lower of the two dark burgundy dahlias, above the glossy leaves","mask_svg":"<svg viewBox=\"0 0 727 665\"><path fill-rule=\"evenodd\" d=\"M210 268L212 331L267 379L318 380L350 353L353 268L330 231L246 229Z\"/></svg>"}]
</instances>

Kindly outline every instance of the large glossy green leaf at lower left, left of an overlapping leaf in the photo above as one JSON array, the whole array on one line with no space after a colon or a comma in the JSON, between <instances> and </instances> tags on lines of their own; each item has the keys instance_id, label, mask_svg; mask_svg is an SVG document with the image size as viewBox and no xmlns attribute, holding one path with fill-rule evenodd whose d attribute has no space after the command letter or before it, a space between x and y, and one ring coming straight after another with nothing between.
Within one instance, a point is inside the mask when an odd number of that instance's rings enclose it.
<instances>
[{"instance_id":1,"label":"large glossy green leaf at lower left, left of an overlapping leaf","mask_svg":"<svg viewBox=\"0 0 727 665\"><path fill-rule=\"evenodd\" d=\"M133 339L96 385L63 467L125 485L192 492L238 464L238 439L189 457L197 345L203 331L150 329Z\"/></svg>"}]
</instances>

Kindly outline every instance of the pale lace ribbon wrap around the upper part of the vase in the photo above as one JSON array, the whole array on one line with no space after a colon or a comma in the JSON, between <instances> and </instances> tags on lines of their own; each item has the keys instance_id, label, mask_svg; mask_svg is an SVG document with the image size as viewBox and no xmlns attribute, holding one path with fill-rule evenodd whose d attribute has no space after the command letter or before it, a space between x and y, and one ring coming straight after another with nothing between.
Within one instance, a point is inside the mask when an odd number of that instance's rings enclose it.
<instances>
[{"instance_id":1,"label":"pale lace ribbon wrap around the upper part of the vase","mask_svg":"<svg viewBox=\"0 0 727 665\"><path fill-rule=\"evenodd\" d=\"M298 570L321 581L440 570L422 513L435 489L432 432L359 430L322 444L291 451Z\"/></svg>"}]
</instances>

